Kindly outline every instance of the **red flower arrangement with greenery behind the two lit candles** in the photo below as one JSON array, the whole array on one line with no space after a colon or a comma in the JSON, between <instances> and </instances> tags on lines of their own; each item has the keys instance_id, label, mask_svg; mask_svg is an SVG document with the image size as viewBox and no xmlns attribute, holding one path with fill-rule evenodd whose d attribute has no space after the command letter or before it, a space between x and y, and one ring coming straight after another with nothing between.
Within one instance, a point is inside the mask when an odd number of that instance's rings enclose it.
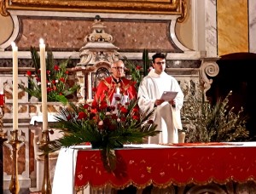
<instances>
[{"instance_id":1,"label":"red flower arrangement with greenery behind the two lit candles","mask_svg":"<svg viewBox=\"0 0 256 194\"><path fill-rule=\"evenodd\" d=\"M40 76L40 56L36 48L31 48L32 63L35 67L35 72L27 71L26 76L28 77L28 87L24 84L19 84L19 88L26 91L30 97L34 96L38 100L42 99L41 94L41 76ZM47 53L46 59L46 80L47 80L47 100L52 102L62 102L67 104L67 96L75 93L79 89L79 85L74 83L70 86L67 83L68 71L67 71L68 60L63 60L59 65L55 64L55 60L52 52Z\"/></svg>"}]
</instances>

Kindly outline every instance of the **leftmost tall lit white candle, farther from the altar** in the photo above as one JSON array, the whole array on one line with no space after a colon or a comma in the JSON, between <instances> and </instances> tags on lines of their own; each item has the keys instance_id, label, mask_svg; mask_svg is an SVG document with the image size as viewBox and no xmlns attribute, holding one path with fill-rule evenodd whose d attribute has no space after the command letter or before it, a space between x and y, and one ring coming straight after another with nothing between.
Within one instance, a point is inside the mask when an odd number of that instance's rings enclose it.
<instances>
[{"instance_id":1,"label":"leftmost tall lit white candle, farther from the altar","mask_svg":"<svg viewBox=\"0 0 256 194\"><path fill-rule=\"evenodd\" d=\"M18 47L11 43L13 49L13 130L18 130Z\"/></svg>"}]
</instances>

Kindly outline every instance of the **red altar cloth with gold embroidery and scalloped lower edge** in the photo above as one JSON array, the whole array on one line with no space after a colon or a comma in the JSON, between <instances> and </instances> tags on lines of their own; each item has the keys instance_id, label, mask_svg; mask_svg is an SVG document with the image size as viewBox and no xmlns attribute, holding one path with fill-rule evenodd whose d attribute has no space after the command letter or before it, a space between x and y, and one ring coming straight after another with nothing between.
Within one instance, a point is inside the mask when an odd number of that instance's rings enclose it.
<instances>
[{"instance_id":1,"label":"red altar cloth with gold embroidery and scalloped lower edge","mask_svg":"<svg viewBox=\"0 0 256 194\"><path fill-rule=\"evenodd\" d=\"M256 147L242 146L177 146L164 148L124 148L116 150L117 168L108 173L99 150L78 151L75 188L90 185L124 188L147 185L196 185L230 180L256 180Z\"/></svg>"}]
</instances>

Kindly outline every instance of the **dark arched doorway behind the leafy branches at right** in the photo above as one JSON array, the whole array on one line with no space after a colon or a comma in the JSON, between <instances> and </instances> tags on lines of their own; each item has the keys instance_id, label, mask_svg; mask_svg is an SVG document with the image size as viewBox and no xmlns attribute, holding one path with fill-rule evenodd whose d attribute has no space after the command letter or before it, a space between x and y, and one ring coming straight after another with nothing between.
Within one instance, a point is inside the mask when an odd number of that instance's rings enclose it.
<instances>
[{"instance_id":1,"label":"dark arched doorway behind the leafy branches at right","mask_svg":"<svg viewBox=\"0 0 256 194\"><path fill-rule=\"evenodd\" d=\"M235 107L239 111L241 106L244 114L249 119L247 129L250 132L251 140L256 140L256 77L253 69L256 66L256 54L235 53L221 56L217 61L219 73L217 77L212 77L213 83L207 91L207 96L211 97L212 103L224 97L232 90L229 106Z\"/></svg>"}]
</instances>

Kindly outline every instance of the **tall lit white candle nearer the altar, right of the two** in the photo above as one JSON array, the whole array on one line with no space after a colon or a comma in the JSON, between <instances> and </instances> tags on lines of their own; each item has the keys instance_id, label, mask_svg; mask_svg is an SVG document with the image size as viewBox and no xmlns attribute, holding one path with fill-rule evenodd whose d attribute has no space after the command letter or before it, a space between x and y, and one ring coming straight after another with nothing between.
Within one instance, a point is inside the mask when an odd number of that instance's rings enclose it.
<instances>
[{"instance_id":1,"label":"tall lit white candle nearer the altar, right of the two","mask_svg":"<svg viewBox=\"0 0 256 194\"><path fill-rule=\"evenodd\" d=\"M48 112L47 112L47 88L46 88L46 65L45 65L45 44L40 39L40 73L41 73L41 93L42 93L42 112L43 112L43 131L48 129Z\"/></svg>"}]
</instances>

